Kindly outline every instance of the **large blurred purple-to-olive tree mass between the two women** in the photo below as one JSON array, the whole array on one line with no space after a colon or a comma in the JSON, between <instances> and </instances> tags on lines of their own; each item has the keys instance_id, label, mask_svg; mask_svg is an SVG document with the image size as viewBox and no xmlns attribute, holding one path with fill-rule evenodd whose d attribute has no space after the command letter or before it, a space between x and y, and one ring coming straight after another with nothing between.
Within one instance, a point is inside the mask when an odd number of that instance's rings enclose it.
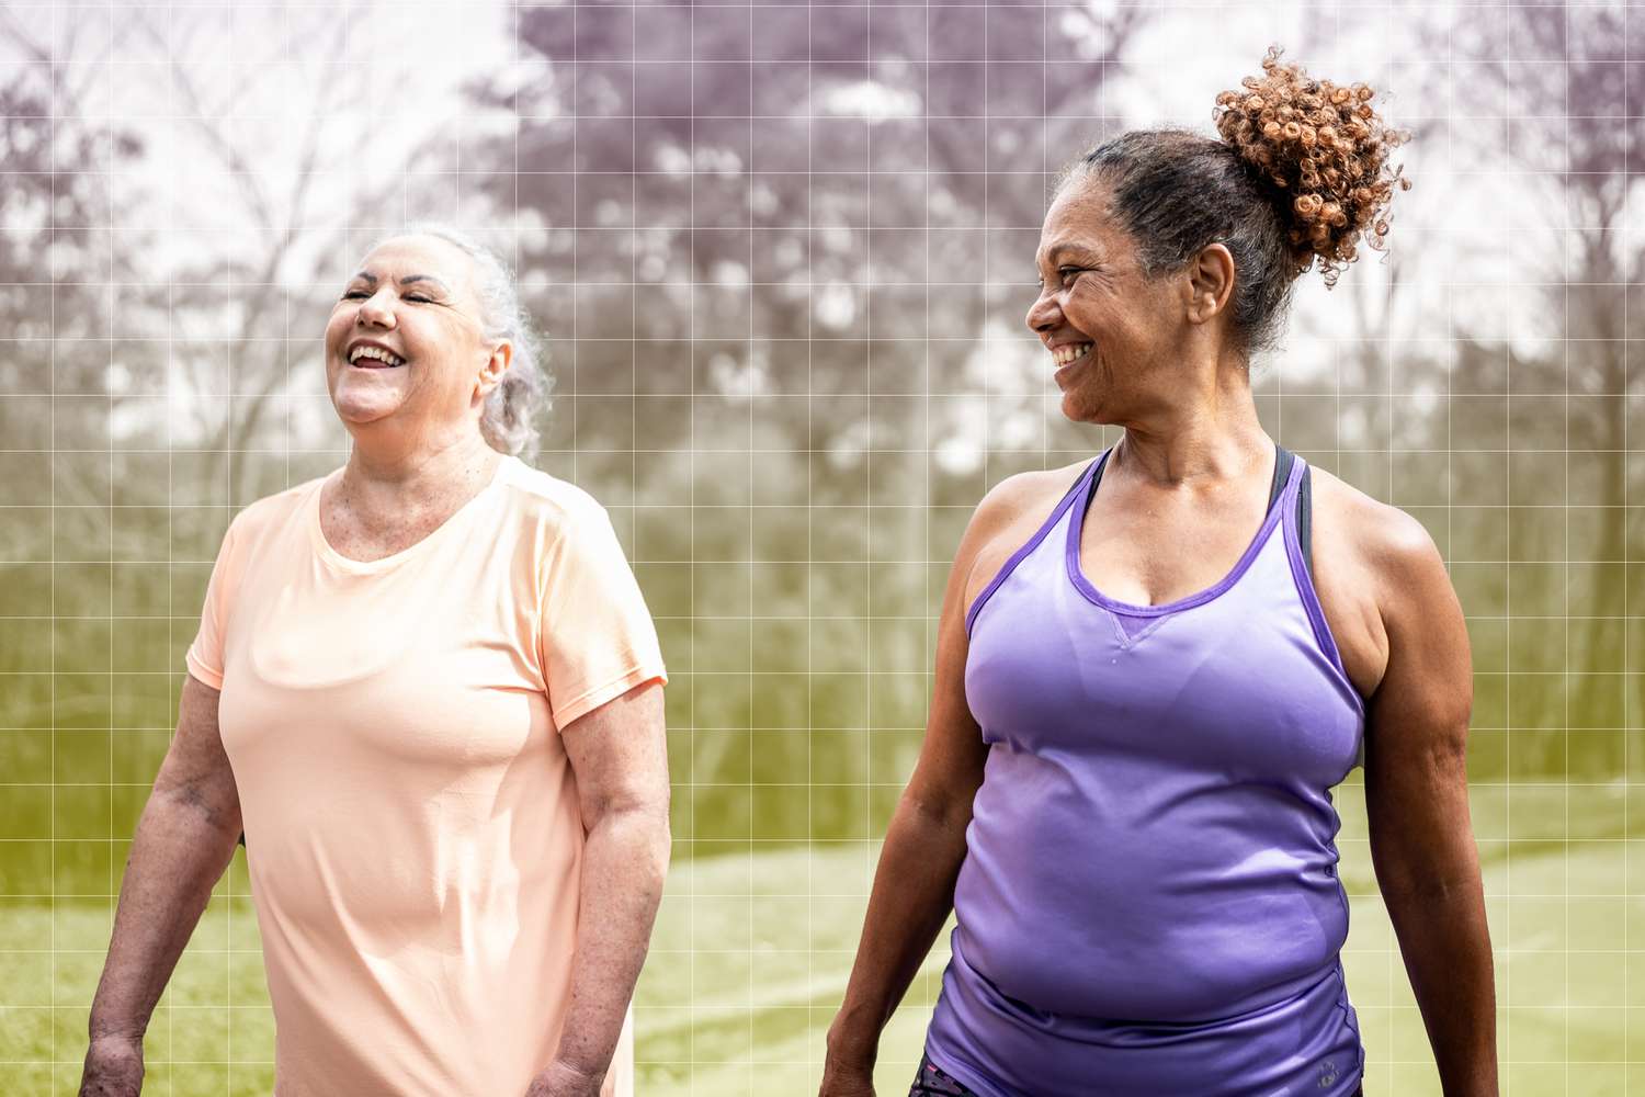
<instances>
[{"instance_id":1,"label":"large blurred purple-to-olive tree mass between the two women","mask_svg":"<svg viewBox=\"0 0 1645 1097\"><path fill-rule=\"evenodd\" d=\"M1045 421L1043 378L989 336L1022 331L1050 173L1112 125L1102 87L1148 18L538 5L521 66L472 87L518 115L494 197L546 227L544 464L632 498L689 669L683 837L883 824L964 516L1045 461L1000 426Z\"/></svg>"}]
</instances>

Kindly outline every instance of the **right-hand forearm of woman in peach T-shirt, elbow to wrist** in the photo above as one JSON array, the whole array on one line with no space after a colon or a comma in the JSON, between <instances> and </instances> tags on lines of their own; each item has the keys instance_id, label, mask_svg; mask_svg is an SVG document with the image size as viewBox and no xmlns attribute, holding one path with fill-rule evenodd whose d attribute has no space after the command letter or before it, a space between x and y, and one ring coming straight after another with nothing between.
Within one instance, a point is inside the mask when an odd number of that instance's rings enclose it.
<instances>
[{"instance_id":1,"label":"right-hand forearm of woman in peach T-shirt, elbow to wrist","mask_svg":"<svg viewBox=\"0 0 1645 1097\"><path fill-rule=\"evenodd\" d=\"M604 1077L622 1036L668 873L668 811L607 811L582 849L571 1005L556 1061Z\"/></svg>"}]
</instances>

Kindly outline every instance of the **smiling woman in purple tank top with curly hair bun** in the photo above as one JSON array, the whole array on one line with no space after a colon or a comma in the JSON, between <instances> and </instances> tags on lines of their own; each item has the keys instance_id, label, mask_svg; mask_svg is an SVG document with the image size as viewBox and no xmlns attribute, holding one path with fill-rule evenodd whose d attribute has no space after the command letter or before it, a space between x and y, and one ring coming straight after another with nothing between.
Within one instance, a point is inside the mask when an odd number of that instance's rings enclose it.
<instances>
[{"instance_id":1,"label":"smiling woman in purple tank top with curly hair bun","mask_svg":"<svg viewBox=\"0 0 1645 1097\"><path fill-rule=\"evenodd\" d=\"M1329 793L1360 757L1446 1094L1495 1092L1457 599L1413 518L1263 433L1247 372L1301 271L1380 243L1403 135L1364 86L1263 69L1224 140L1125 133L1054 194L1028 326L1064 414L1125 433L961 541L829 1097L872 1092L949 910L915 1094L1360 1092Z\"/></svg>"}]
</instances>

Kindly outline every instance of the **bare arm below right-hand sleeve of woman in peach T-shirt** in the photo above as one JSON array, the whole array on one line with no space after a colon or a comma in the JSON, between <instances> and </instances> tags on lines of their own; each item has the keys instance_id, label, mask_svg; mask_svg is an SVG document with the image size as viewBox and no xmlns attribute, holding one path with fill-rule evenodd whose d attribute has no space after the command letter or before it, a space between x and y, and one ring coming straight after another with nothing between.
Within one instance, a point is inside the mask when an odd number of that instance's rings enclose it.
<instances>
[{"instance_id":1,"label":"bare arm below right-hand sleeve of woman in peach T-shirt","mask_svg":"<svg viewBox=\"0 0 1645 1097\"><path fill-rule=\"evenodd\" d=\"M561 730L577 775L582 898L571 1005L554 1061L528 1094L595 1094L651 942L668 872L668 742L663 687L635 686Z\"/></svg>"}]
</instances>

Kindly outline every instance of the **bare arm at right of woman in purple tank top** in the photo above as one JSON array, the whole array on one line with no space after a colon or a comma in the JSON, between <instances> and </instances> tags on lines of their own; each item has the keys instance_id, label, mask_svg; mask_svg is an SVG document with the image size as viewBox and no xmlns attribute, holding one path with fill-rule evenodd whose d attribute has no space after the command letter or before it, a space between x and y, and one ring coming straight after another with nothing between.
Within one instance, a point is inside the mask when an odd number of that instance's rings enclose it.
<instances>
[{"instance_id":1,"label":"bare arm at right of woman in purple tank top","mask_svg":"<svg viewBox=\"0 0 1645 1097\"><path fill-rule=\"evenodd\" d=\"M1467 809L1467 628L1444 562L1415 520L1400 515L1385 556L1379 604L1388 669L1365 740L1372 863L1444 1092L1495 1097L1490 931Z\"/></svg>"}]
</instances>

